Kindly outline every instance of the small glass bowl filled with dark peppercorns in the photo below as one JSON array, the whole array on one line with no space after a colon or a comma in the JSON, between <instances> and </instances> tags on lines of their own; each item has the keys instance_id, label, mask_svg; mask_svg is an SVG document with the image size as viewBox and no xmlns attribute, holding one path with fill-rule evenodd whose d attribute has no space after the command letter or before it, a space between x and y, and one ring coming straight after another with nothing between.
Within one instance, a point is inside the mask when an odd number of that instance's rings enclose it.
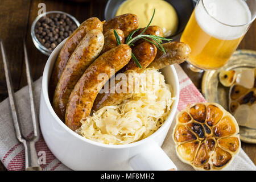
<instances>
[{"instance_id":1,"label":"small glass bowl filled with dark peppercorns","mask_svg":"<svg viewBox=\"0 0 256 182\"><path fill-rule=\"evenodd\" d=\"M36 17L32 23L32 40L39 51L49 56L79 26L79 21L72 15L62 11L48 11Z\"/></svg>"}]
</instances>

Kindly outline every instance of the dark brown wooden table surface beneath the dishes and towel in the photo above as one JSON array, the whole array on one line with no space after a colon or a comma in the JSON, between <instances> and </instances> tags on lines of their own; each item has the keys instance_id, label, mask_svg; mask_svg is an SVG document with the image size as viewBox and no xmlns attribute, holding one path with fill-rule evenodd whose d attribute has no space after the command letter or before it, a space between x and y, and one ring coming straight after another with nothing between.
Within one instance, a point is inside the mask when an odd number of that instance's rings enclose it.
<instances>
[{"instance_id":1,"label":"dark brown wooden table surface beneath the dishes and towel","mask_svg":"<svg viewBox=\"0 0 256 182\"><path fill-rule=\"evenodd\" d=\"M38 4L46 4L46 11L65 11L77 18L80 22L91 16L104 19L104 8L106 1L94 0L91 2L80 2L83 0L53 1L53 0L1 0L0 1L0 39L5 44L7 59L10 62L13 86L15 91L27 85L26 72L24 68L23 38L26 38L28 57L30 59L31 75L34 80L42 76L47 56L39 52L32 43L30 27L38 14ZM256 22L243 38L240 49L256 50ZM0 58L2 59L2 57ZM202 74L197 74L187 69L186 63L181 64L185 72L197 86L201 89ZM7 97L5 75L2 60L0 61L0 101ZM242 148L256 164L256 144L242 143ZM0 162L0 170L6 170Z\"/></svg>"}]
</instances>

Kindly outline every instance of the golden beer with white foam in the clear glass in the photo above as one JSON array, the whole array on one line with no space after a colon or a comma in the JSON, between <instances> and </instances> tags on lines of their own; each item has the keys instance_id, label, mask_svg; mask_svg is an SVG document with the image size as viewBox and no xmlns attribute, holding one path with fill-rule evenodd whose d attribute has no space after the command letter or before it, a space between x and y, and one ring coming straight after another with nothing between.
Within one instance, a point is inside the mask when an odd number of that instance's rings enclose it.
<instances>
[{"instance_id":1,"label":"golden beer with white foam in the clear glass","mask_svg":"<svg viewBox=\"0 0 256 182\"><path fill-rule=\"evenodd\" d=\"M210 0L203 0L204 3L205 1L209 2ZM242 0L229 1L239 2ZM214 3L218 2L220 1L214 1ZM180 41L187 43L191 47L189 63L204 70L217 69L224 66L229 60L229 57L232 56L245 35L247 27L230 27L226 24L221 24L221 22L205 14L203 12L205 11L205 9L202 8L203 6L202 1L197 4ZM238 4L238 6L240 5ZM239 8L242 9L241 7ZM216 11L217 10L215 10L214 13L216 13ZM246 9L245 11L245 17L241 20L243 22L248 21L250 18L247 14L248 10ZM221 12L217 11L217 13L220 14Z\"/></svg>"}]
</instances>

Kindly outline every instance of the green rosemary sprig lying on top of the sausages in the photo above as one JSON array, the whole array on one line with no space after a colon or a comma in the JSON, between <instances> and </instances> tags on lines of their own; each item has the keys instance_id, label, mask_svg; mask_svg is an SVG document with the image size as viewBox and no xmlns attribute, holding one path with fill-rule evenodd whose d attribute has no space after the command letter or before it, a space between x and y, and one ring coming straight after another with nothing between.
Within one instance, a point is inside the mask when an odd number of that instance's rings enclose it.
<instances>
[{"instance_id":1,"label":"green rosemary sprig lying on top of the sausages","mask_svg":"<svg viewBox=\"0 0 256 182\"><path fill-rule=\"evenodd\" d=\"M154 44L156 46L156 48L160 49L161 51L164 52L164 54L166 54L166 51L164 50L161 42L162 42L162 40L171 42L172 39L167 39L167 38L163 38L162 36L156 36L156 35L143 35L144 32L147 30L147 28L150 26L150 24L151 24L151 22L152 22L152 20L154 18L154 15L155 15L155 9L154 9L154 13L153 13L153 15L152 15L152 17L150 19L150 22L147 24L146 28L144 28L144 30L139 35L135 36L134 38L133 38L133 35L135 34L135 32L141 30L141 28L138 28L137 30L134 30L134 31L130 32L130 34L126 38L125 43L128 44L128 46L134 46L134 43L137 40L144 39L144 40ZM117 31L115 31L115 30L114 30L114 35L115 35L115 38L117 39L117 44L120 45L121 41L120 41L120 38L119 38L119 36L117 34ZM139 63L138 59L135 57L133 52L131 53L131 57L133 58L133 60L137 64L137 66L139 68L142 68L141 64Z\"/></svg>"}]
</instances>

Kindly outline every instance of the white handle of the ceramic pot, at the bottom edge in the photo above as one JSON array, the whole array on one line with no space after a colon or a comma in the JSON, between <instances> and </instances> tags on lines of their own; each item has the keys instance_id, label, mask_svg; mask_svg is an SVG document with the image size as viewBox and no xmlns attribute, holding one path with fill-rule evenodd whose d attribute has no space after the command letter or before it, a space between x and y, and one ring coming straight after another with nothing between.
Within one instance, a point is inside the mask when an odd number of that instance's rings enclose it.
<instances>
[{"instance_id":1,"label":"white handle of the ceramic pot, at the bottom edge","mask_svg":"<svg viewBox=\"0 0 256 182\"><path fill-rule=\"evenodd\" d=\"M133 156L130 166L135 171L176 171L177 167L167 156L163 149L155 142L151 143L146 150Z\"/></svg>"}]
</instances>

